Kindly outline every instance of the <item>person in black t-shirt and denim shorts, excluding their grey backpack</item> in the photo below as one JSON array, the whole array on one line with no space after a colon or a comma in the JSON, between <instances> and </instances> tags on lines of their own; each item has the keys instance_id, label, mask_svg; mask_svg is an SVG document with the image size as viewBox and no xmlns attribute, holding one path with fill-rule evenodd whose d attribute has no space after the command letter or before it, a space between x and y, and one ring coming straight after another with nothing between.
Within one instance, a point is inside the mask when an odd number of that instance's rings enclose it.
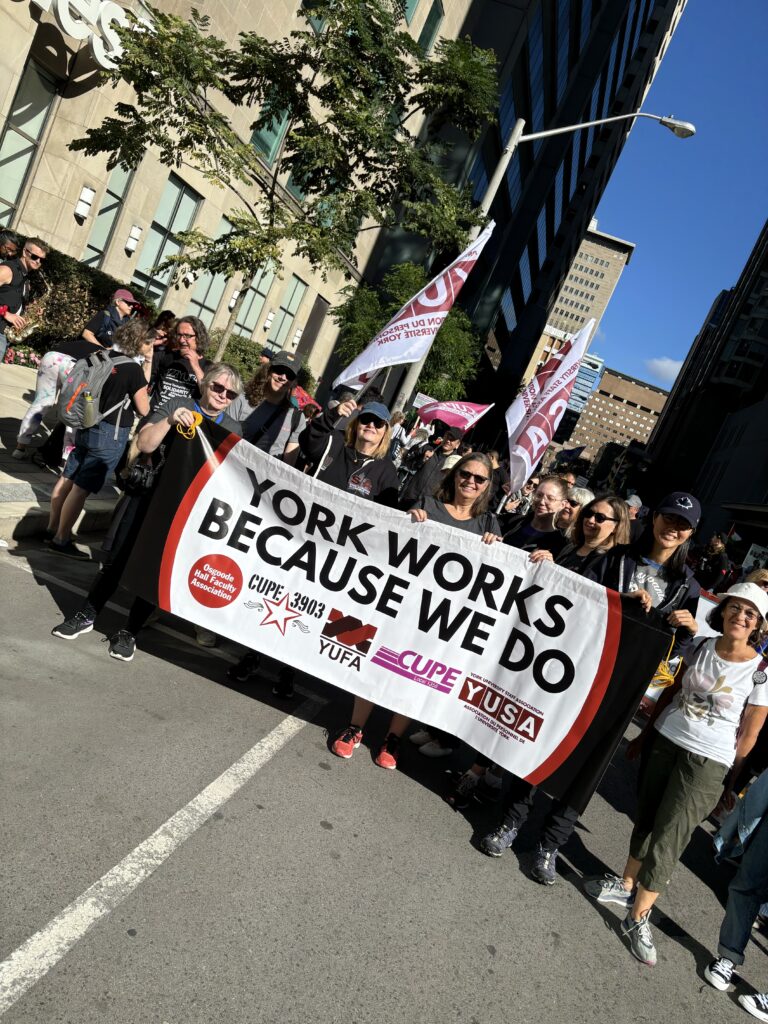
<instances>
[{"instance_id":1,"label":"person in black t-shirt and denim shorts, excluding their grey backpack","mask_svg":"<svg viewBox=\"0 0 768 1024\"><path fill-rule=\"evenodd\" d=\"M90 555L72 542L72 530L83 510L88 495L103 487L128 443L133 426L131 406L139 416L150 412L146 395L147 372L133 359L152 357L153 341L150 330L141 321L130 321L115 332L121 353L110 353L115 368L99 396L100 413L106 413L94 427L77 431L75 447L70 453L63 473L51 493L48 534L51 551L72 558L88 559ZM128 357L129 361L126 361Z\"/></svg>"}]
</instances>

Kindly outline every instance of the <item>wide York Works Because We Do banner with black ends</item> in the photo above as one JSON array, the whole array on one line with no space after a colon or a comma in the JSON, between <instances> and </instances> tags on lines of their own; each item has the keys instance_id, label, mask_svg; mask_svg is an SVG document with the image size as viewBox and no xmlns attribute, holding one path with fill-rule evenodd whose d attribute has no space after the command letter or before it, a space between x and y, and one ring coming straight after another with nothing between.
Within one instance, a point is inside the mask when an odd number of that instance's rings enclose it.
<instances>
[{"instance_id":1,"label":"wide York Works Because We Do banner with black ends","mask_svg":"<svg viewBox=\"0 0 768 1024\"><path fill-rule=\"evenodd\" d=\"M134 593L586 805L669 634L552 562L412 523L212 424L169 437Z\"/></svg>"}]
</instances>

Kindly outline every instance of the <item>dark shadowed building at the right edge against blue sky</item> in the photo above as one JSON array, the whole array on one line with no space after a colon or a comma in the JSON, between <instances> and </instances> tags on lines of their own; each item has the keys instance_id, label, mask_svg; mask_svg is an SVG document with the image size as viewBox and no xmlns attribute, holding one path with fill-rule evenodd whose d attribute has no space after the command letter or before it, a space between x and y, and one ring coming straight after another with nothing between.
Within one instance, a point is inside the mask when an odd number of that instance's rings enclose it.
<instances>
[{"instance_id":1,"label":"dark shadowed building at the right edge against blue sky","mask_svg":"<svg viewBox=\"0 0 768 1024\"><path fill-rule=\"evenodd\" d=\"M735 286L720 293L650 439L656 495L686 488L703 528L768 539L768 223Z\"/></svg>"}]
</instances>

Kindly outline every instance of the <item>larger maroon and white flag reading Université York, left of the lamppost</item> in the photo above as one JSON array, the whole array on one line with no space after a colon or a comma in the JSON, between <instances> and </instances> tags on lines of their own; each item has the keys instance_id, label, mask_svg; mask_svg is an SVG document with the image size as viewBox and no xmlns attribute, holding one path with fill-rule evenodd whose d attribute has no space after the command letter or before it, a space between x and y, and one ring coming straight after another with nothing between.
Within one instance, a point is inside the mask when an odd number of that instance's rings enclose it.
<instances>
[{"instance_id":1,"label":"larger maroon and white flag reading Universit\u00e9 York, left of the lamppost","mask_svg":"<svg viewBox=\"0 0 768 1024\"><path fill-rule=\"evenodd\" d=\"M339 374L333 386L349 384L362 374L370 374L384 367L418 362L423 358L490 238L494 227L492 220L451 266L438 273L418 295L410 299L387 326L379 331L365 351Z\"/></svg>"}]
</instances>

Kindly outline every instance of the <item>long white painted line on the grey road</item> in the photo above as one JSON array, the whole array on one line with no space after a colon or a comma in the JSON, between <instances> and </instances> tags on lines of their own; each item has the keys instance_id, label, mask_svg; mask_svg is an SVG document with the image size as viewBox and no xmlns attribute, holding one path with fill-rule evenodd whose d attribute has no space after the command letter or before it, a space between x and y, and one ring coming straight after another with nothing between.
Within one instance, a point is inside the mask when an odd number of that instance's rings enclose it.
<instances>
[{"instance_id":1,"label":"long white painted line on the grey road","mask_svg":"<svg viewBox=\"0 0 768 1024\"><path fill-rule=\"evenodd\" d=\"M67 955L102 918L145 882L314 718L325 700L304 701L239 761L170 817L119 864L0 963L0 1016Z\"/></svg>"}]
</instances>

